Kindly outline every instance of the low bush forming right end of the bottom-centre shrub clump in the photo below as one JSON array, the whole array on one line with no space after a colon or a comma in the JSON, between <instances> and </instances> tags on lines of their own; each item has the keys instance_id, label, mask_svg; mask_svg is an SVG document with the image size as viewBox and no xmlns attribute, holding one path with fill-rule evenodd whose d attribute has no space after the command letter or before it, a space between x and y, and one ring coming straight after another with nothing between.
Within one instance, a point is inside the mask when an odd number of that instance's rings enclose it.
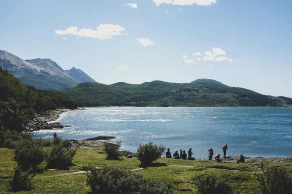
<instances>
[{"instance_id":1,"label":"low bush forming right end of the bottom-centre shrub clump","mask_svg":"<svg viewBox=\"0 0 292 194\"><path fill-rule=\"evenodd\" d=\"M159 180L143 179L139 185L140 194L172 194L173 187L170 183Z\"/></svg>"}]
</instances>

